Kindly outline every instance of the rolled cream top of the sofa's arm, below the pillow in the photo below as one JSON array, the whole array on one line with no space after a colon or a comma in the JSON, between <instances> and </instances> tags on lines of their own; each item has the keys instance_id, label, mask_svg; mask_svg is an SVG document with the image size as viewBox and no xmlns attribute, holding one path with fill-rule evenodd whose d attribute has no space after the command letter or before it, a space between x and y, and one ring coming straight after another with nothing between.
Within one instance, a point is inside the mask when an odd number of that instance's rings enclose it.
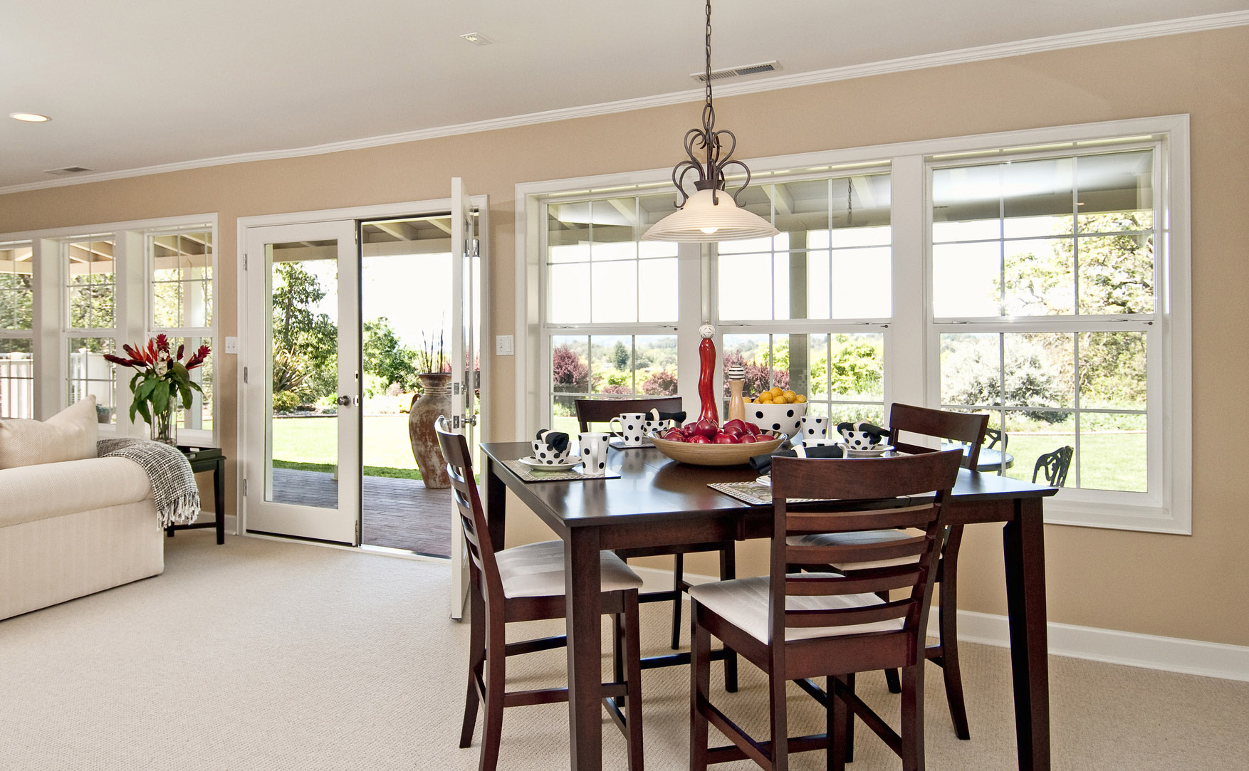
<instances>
[{"instance_id":1,"label":"rolled cream top of the sofa's arm, below the pillow","mask_svg":"<svg viewBox=\"0 0 1249 771\"><path fill-rule=\"evenodd\" d=\"M125 457L0 469L0 527L151 496L152 485L142 466Z\"/></svg>"}]
</instances>

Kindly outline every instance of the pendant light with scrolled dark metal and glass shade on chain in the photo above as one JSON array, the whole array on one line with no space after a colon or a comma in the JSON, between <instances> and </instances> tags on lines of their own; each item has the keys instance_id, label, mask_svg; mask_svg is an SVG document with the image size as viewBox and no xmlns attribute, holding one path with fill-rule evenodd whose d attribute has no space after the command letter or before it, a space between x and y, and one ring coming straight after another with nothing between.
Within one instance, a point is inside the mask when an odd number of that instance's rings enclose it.
<instances>
[{"instance_id":1,"label":"pendant light with scrolled dark metal and glass shade on chain","mask_svg":"<svg viewBox=\"0 0 1249 771\"><path fill-rule=\"evenodd\" d=\"M716 109L711 102L711 0L707 0L706 34L707 104L703 105L702 129L686 131L686 155L672 170L677 186L677 211L649 227L643 241L733 241L774 236L779 231L757 214L742 209L737 196L751 184L751 170L742 161L729 160L737 149L737 137L728 129L716 130ZM699 160L696 152L706 156ZM724 169L741 166L746 181L732 194L724 190ZM684 191L686 176L698 172L694 194Z\"/></svg>"}]
</instances>

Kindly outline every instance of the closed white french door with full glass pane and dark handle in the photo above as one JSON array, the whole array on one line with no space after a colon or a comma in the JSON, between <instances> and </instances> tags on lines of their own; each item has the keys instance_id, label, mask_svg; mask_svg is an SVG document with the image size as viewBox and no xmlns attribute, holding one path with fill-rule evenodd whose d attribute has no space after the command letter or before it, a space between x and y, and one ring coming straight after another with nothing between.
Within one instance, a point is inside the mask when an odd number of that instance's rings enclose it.
<instances>
[{"instance_id":1,"label":"closed white french door with full glass pane and dark handle","mask_svg":"<svg viewBox=\"0 0 1249 771\"><path fill-rule=\"evenodd\" d=\"M240 434L246 445L246 529L358 546L356 224L249 227L245 275L247 327L241 337L249 420ZM289 400L312 377L336 381L336 414L275 412L275 399ZM279 406L300 412L294 402ZM305 462L310 449L315 462Z\"/></svg>"}]
</instances>

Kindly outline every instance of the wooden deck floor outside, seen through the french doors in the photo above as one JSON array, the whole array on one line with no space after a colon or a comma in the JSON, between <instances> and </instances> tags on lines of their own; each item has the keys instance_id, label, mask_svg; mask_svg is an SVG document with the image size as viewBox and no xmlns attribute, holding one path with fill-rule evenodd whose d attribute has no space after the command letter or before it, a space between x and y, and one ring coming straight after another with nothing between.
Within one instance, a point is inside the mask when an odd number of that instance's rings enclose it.
<instances>
[{"instance_id":1,"label":"wooden deck floor outside, seen through the french doors","mask_svg":"<svg viewBox=\"0 0 1249 771\"><path fill-rule=\"evenodd\" d=\"M322 471L274 469L274 500L333 507L338 482ZM360 542L437 557L451 556L451 490L426 490L425 482L366 476Z\"/></svg>"}]
</instances>

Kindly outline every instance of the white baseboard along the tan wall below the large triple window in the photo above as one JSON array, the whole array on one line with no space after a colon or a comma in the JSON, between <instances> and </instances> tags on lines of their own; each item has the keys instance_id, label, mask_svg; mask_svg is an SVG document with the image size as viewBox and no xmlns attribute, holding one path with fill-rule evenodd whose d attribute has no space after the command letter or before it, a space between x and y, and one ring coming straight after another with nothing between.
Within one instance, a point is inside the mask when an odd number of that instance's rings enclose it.
<instances>
[{"instance_id":1,"label":"white baseboard along the tan wall below the large triple window","mask_svg":"<svg viewBox=\"0 0 1249 771\"><path fill-rule=\"evenodd\" d=\"M642 576L644 591L672 587L671 570L631 567ZM686 580L691 584L702 584L718 579L686 574ZM1142 635L1054 621L1050 621L1048 627L1049 654L1052 656L1249 681L1249 646ZM936 614L929 620L929 636L937 636ZM958 611L958 639L967 642L1009 647L1010 635L1007 617L960 610Z\"/></svg>"}]
</instances>

